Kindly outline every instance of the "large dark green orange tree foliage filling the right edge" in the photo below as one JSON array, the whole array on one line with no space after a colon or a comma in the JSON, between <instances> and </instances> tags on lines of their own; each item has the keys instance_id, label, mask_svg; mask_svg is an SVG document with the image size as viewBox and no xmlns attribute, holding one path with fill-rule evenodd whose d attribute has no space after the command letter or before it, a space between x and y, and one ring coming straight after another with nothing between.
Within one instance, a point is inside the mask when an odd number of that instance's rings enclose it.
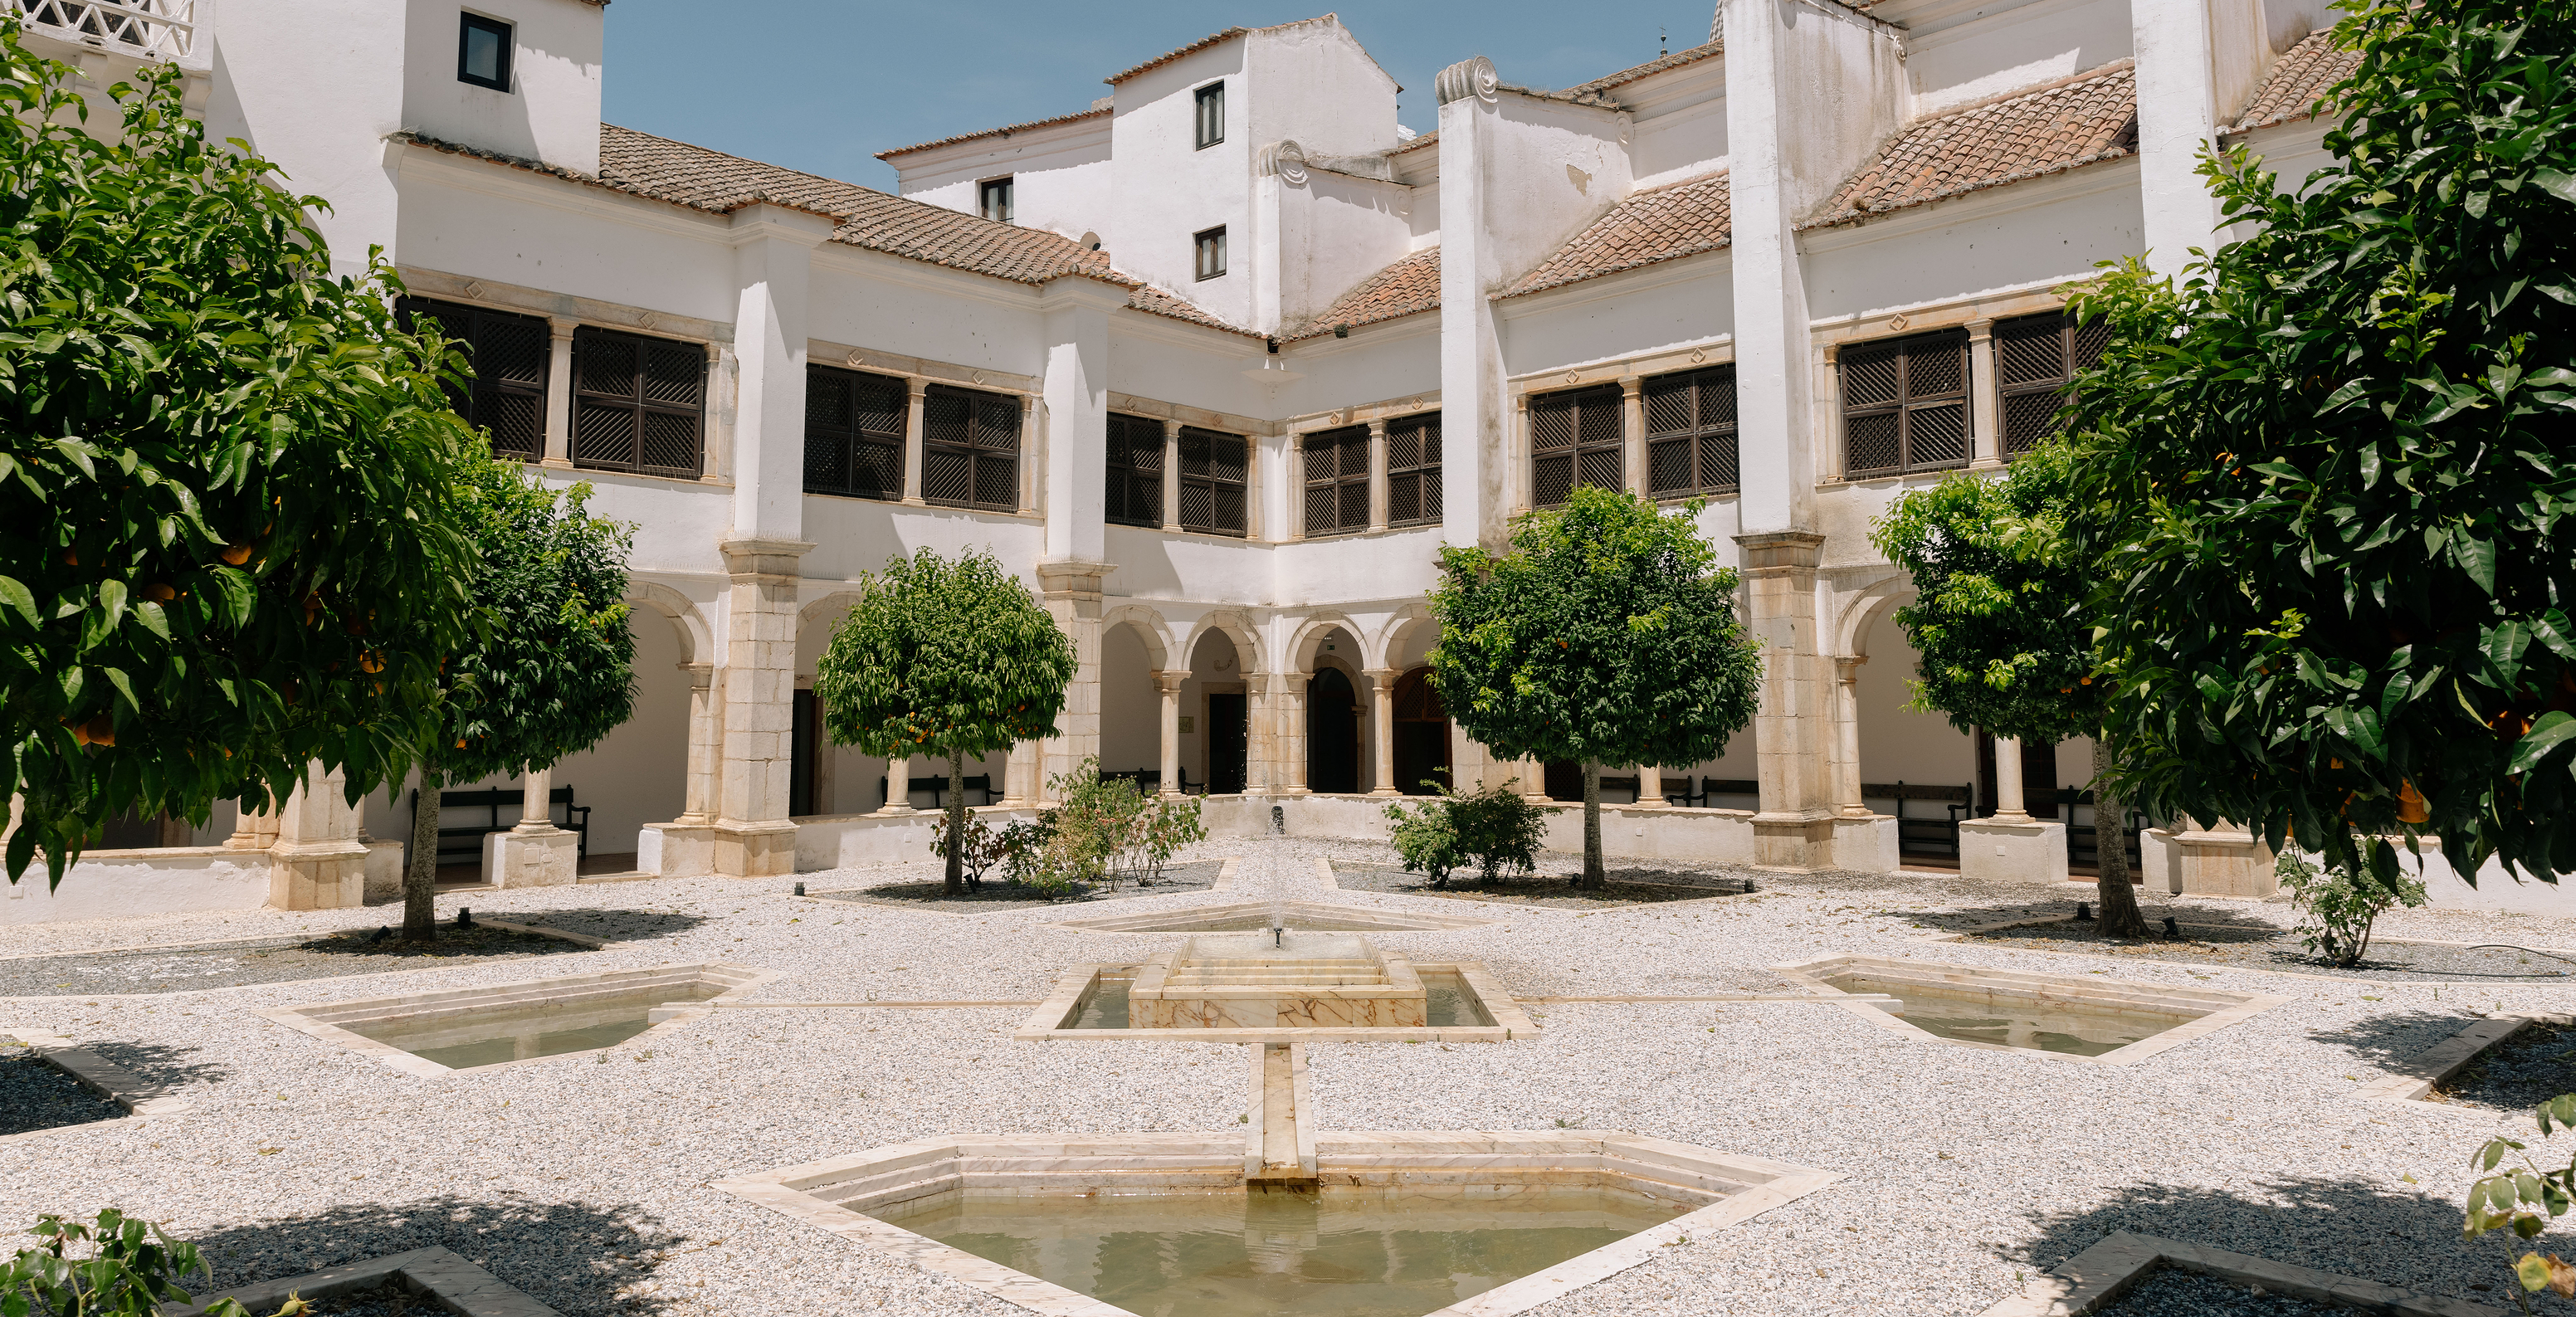
<instances>
[{"instance_id":1,"label":"large dark green orange tree foliage filling the right edge","mask_svg":"<svg viewBox=\"0 0 2576 1317\"><path fill-rule=\"evenodd\" d=\"M2130 789L2396 881L2576 869L2576 0L2354 8L2334 165L2076 307L2074 534ZM2414 791L2409 791L2409 786ZM2419 796L2419 799L2416 799ZM2357 843L2357 838L2370 838Z\"/></svg>"}]
</instances>

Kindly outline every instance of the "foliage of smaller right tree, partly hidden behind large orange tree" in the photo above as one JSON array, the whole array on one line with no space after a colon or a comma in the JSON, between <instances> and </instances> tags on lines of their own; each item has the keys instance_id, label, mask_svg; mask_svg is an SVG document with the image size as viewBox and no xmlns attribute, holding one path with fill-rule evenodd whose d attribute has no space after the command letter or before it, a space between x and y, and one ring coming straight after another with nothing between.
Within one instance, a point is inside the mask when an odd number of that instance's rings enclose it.
<instances>
[{"instance_id":1,"label":"foliage of smaller right tree, partly hidden behind large orange tree","mask_svg":"<svg viewBox=\"0 0 2576 1317\"><path fill-rule=\"evenodd\" d=\"M2066 544L2069 482L2066 446L2043 443L2002 479L1950 472L1870 526L1870 544L1914 577L1914 603L1896 608L1922 657L1914 709L1960 732L2094 735L2092 577Z\"/></svg>"}]
</instances>

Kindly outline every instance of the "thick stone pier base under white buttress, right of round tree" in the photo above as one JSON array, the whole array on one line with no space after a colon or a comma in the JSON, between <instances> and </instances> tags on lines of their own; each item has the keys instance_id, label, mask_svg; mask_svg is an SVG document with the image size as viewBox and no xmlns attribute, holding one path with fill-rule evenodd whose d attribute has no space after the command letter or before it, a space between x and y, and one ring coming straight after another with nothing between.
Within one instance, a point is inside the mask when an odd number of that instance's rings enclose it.
<instances>
[{"instance_id":1,"label":"thick stone pier base under white buttress, right of round tree","mask_svg":"<svg viewBox=\"0 0 2576 1317\"><path fill-rule=\"evenodd\" d=\"M1832 706L1816 655L1816 554L1824 536L1765 531L1736 536L1744 554L1749 629L1762 644L1754 704L1754 863L1824 869L1832 863Z\"/></svg>"}]
</instances>

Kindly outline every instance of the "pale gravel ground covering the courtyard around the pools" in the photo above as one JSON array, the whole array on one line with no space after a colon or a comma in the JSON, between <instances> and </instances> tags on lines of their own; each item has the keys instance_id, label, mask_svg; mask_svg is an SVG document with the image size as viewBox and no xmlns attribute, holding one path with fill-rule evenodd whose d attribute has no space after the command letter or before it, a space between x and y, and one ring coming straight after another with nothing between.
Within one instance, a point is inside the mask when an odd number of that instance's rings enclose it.
<instances>
[{"instance_id":1,"label":"pale gravel ground covering the courtyard around the pools","mask_svg":"<svg viewBox=\"0 0 2576 1317\"><path fill-rule=\"evenodd\" d=\"M1373 843L1211 840L1244 856L1226 892L1388 910L1448 897L1332 892L1314 858L1388 863ZM1708 869L1718 874L1716 866ZM809 889L927 881L935 861L799 874ZM654 879L443 897L477 912L629 938L582 969L732 961L786 972L755 997L1036 1000L1077 961L1136 961L1170 936L1054 928L1061 905L966 915L796 899L796 879ZM2066 912L2081 887L1958 876L1765 874L1687 907L1504 910L1479 928L1376 933L1414 959L1484 961L1515 995L1788 987L1770 966L1834 954L2099 969L2287 995L2280 1008L2133 1067L1968 1049L1793 1003L1538 1005L1538 1039L1319 1044L1327 1129L1633 1129L1842 1180L1543 1309L1577 1314L1960 1314L2115 1229L2197 1240L2383 1283L2470 1296L2491 1245L2460 1245L2468 1152L2512 1119L2349 1101L2494 1010L2568 1010L2576 985L2409 987L2285 979L2226 964L2043 956L1927 943L1927 930ZM2148 918L2287 925L2285 905L2141 894ZM2403 912L2388 936L2576 946L2568 920ZM376 928L381 910L227 912L13 928L31 954ZM0 997L173 1085L193 1111L0 1144L0 1227L124 1206L209 1247L219 1286L446 1245L567 1317L1020 1312L956 1281L755 1209L708 1180L943 1131L1239 1129L1229 1044L1010 1041L1025 1008L724 1010L616 1052L412 1077L258 1008L489 987L564 961L446 961L345 985ZM2550 1149L2543 1149L2550 1152ZM2558 1149L2563 1152L2563 1149ZM2555 1222L2537 1247L2576 1253ZM2494 1296L2478 1296L2494 1302ZM2543 1312L2576 1304L2543 1296Z\"/></svg>"}]
</instances>

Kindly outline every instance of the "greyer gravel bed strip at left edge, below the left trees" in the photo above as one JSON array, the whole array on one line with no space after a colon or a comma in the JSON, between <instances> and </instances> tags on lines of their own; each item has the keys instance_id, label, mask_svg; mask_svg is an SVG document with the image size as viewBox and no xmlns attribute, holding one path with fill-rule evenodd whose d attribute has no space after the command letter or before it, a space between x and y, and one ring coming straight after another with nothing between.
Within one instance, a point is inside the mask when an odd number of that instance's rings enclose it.
<instances>
[{"instance_id":1,"label":"greyer gravel bed strip at left edge, below the left trees","mask_svg":"<svg viewBox=\"0 0 2576 1317\"><path fill-rule=\"evenodd\" d=\"M502 928L459 930L440 925L438 938L428 943L407 943L402 933L381 943L368 943L374 933L374 928L363 928L327 938L258 938L198 948L0 959L0 997L193 992L204 987L417 969L422 961L523 961L528 956L590 951L577 941ZM549 969L549 974L569 974L569 969Z\"/></svg>"}]
</instances>

